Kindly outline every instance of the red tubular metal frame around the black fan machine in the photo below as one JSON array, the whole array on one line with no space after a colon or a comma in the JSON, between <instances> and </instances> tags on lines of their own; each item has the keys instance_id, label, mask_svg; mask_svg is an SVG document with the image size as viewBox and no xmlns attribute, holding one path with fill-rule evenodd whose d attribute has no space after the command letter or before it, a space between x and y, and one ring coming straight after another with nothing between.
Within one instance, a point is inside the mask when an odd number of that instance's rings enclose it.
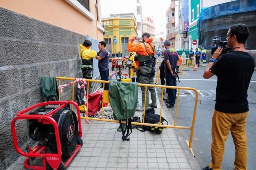
<instances>
[{"instance_id":1,"label":"red tubular metal frame around the black fan machine","mask_svg":"<svg viewBox=\"0 0 256 170\"><path fill-rule=\"evenodd\" d=\"M24 109L20 112L17 113L17 117L14 118L11 121L11 133L13 137L13 146L15 150L18 152L18 154L28 157L24 161L24 167L27 169L33 169L33 170L46 170L46 162L51 166L53 170L57 170L59 166L64 166L66 168L72 159L76 156L77 152L81 148L82 145L77 144L76 149L74 150L74 153L66 159L65 163L63 162L61 155L61 140L59 136L59 127L57 122L52 118L52 115L59 109L67 107L69 104L72 104L76 107L77 110L77 122L78 122L78 137L82 137L82 126L81 126L81 115L80 115L80 110L74 101L47 101L43 103L38 103L35 104L31 107L28 107L27 109ZM30 112L33 109L36 109L41 106L46 106L46 105L59 105L59 107L53 109L52 111L48 112L47 114L44 115L31 115L31 114L26 114ZM30 148L28 147L28 153L23 152L20 147L18 146L18 141L17 141L17 134L15 130L15 122L20 119L37 119L38 122L42 122L44 125L53 125L54 127L54 132L55 132L55 139L56 139L56 146L57 146L57 153L52 154L52 153L45 153L45 150L47 146L39 146L37 145L35 148ZM32 163L32 159L39 157L42 158L42 166L38 165L30 165ZM30 164L28 164L30 163Z\"/></svg>"}]
</instances>

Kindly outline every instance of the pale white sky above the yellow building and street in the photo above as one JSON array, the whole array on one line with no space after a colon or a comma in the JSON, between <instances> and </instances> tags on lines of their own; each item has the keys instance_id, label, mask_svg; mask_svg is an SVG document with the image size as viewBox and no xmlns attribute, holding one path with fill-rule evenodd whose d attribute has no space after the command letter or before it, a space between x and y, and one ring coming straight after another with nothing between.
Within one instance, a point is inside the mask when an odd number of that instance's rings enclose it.
<instances>
[{"instance_id":1,"label":"pale white sky above the yellow building and street","mask_svg":"<svg viewBox=\"0 0 256 170\"><path fill-rule=\"evenodd\" d=\"M135 13L137 0L101 0L101 18L109 14ZM166 32L166 11L171 0L140 0L142 17L151 17L155 23L155 34Z\"/></svg>"}]
</instances>

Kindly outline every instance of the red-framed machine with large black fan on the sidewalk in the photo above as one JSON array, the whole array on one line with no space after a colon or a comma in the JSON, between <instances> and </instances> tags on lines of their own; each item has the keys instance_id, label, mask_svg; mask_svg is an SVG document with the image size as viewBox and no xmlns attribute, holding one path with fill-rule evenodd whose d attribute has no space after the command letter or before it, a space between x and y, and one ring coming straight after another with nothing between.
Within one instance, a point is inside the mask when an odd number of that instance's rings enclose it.
<instances>
[{"instance_id":1,"label":"red-framed machine with large black fan on the sidewalk","mask_svg":"<svg viewBox=\"0 0 256 170\"><path fill-rule=\"evenodd\" d=\"M76 107L77 116L70 105ZM20 119L27 119L29 135L37 141L28 153L18 146L15 122ZM48 101L24 109L12 120L11 132L15 150L28 157L27 169L65 170L83 146L80 110L73 101Z\"/></svg>"}]
</instances>

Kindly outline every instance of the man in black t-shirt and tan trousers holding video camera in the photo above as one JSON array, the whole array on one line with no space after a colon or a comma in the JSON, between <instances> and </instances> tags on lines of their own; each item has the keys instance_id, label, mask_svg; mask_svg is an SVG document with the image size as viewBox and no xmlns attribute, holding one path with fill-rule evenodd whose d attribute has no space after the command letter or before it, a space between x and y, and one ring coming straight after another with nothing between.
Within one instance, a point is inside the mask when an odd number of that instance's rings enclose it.
<instances>
[{"instance_id":1,"label":"man in black t-shirt and tan trousers holding video camera","mask_svg":"<svg viewBox=\"0 0 256 170\"><path fill-rule=\"evenodd\" d=\"M216 103L212 116L212 162L203 170L220 170L229 131L236 148L234 170L247 169L247 137L245 123L249 113L247 90L254 71L254 59L245 50L249 29L244 24L230 26L227 42L232 52L223 54L218 48L203 77L217 76Z\"/></svg>"}]
</instances>

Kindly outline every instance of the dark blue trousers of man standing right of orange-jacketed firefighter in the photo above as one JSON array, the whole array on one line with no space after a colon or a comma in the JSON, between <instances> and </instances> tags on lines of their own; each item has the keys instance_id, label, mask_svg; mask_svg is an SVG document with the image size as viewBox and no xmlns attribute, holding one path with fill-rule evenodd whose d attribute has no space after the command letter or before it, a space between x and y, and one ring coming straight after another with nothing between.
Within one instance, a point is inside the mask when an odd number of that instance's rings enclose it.
<instances>
[{"instance_id":1,"label":"dark blue trousers of man standing right of orange-jacketed firefighter","mask_svg":"<svg viewBox=\"0 0 256 170\"><path fill-rule=\"evenodd\" d=\"M167 68L165 70L165 78L166 78L166 85L168 85L168 86L176 86L177 85L175 76L172 76L171 72ZM170 101L169 104L174 105L175 99L176 99L176 94L177 94L177 89L166 89L166 92L168 93L168 97L169 97L169 101Z\"/></svg>"}]
</instances>

